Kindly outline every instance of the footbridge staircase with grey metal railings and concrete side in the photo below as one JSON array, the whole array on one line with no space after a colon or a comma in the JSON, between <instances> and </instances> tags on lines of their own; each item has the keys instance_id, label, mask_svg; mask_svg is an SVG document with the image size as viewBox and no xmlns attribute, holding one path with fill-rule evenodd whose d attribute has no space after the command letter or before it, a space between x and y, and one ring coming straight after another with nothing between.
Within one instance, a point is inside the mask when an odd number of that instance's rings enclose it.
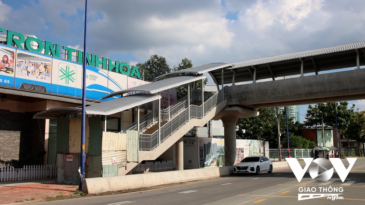
<instances>
[{"instance_id":1,"label":"footbridge staircase with grey metal railings and concrete side","mask_svg":"<svg viewBox=\"0 0 365 205\"><path fill-rule=\"evenodd\" d=\"M214 95L204 92L203 96L203 105L201 91L196 90L190 94L189 98L185 96L169 108L161 109L160 135L157 123L158 109L139 120L139 129L135 122L122 131L124 133L127 130L139 130L139 162L155 160L191 128L203 127L227 105L226 87ZM189 107L188 100L190 100ZM122 175L131 171L137 164L136 162L128 163L126 172Z\"/></svg>"}]
</instances>

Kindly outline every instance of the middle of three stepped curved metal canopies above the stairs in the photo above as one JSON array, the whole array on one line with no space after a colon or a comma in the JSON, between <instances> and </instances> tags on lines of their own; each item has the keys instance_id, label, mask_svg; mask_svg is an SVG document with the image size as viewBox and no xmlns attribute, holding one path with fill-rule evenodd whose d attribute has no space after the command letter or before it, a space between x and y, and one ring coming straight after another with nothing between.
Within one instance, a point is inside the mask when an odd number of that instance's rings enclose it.
<instances>
[{"instance_id":1,"label":"middle of three stepped curved metal canopies above the stairs","mask_svg":"<svg viewBox=\"0 0 365 205\"><path fill-rule=\"evenodd\" d=\"M176 76L173 78L166 78L164 80L151 82L149 84L136 86L134 88L129 88L125 90L121 90L118 92L110 93L107 96L104 96L102 99L114 97L118 95L122 95L128 92L145 92L145 93L157 93L163 90L167 90L170 88L174 88L179 85L184 85L189 82L194 82L197 80L201 80L207 78L205 76L197 76L197 75L185 75L185 76Z\"/></svg>"}]
</instances>

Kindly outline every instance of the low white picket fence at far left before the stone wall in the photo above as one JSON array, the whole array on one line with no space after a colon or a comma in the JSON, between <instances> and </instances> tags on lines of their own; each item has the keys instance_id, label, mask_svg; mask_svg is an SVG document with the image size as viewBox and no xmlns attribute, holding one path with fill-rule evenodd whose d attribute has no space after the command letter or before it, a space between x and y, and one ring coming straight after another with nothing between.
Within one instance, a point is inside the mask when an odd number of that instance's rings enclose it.
<instances>
[{"instance_id":1,"label":"low white picket fence at far left before the stone wall","mask_svg":"<svg viewBox=\"0 0 365 205\"><path fill-rule=\"evenodd\" d=\"M57 165L27 165L20 169L14 169L12 166L0 167L0 182L55 177Z\"/></svg>"}]
</instances>

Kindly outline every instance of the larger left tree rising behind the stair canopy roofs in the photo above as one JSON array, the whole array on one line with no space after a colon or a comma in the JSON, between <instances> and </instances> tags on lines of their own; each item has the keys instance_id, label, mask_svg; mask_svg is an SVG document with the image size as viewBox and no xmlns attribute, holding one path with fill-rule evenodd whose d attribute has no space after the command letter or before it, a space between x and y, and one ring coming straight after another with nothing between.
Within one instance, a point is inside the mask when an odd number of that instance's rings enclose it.
<instances>
[{"instance_id":1,"label":"larger left tree rising behind the stair canopy roofs","mask_svg":"<svg viewBox=\"0 0 365 205\"><path fill-rule=\"evenodd\" d=\"M170 66L166 62L166 58L158 55L151 55L151 58L144 63L137 63L141 73L144 72L147 81L153 81L153 78L170 72Z\"/></svg>"}]
</instances>

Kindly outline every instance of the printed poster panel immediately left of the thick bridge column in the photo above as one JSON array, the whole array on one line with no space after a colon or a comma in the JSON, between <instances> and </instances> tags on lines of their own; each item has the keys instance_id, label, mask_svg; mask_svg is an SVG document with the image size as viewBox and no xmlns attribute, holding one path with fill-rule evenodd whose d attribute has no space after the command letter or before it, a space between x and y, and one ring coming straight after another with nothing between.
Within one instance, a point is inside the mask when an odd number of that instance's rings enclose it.
<instances>
[{"instance_id":1,"label":"printed poster panel immediately left of the thick bridge column","mask_svg":"<svg viewBox=\"0 0 365 205\"><path fill-rule=\"evenodd\" d=\"M199 138L199 166L224 166L224 140Z\"/></svg>"}]
</instances>

